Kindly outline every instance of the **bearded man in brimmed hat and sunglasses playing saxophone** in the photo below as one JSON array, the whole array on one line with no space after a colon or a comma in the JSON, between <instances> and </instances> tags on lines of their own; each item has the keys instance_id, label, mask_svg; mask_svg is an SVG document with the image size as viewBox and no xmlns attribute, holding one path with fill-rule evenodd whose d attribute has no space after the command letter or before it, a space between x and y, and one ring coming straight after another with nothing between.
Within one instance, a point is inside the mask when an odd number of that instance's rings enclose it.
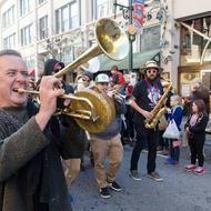
<instances>
[{"instance_id":1,"label":"bearded man in brimmed hat and sunglasses playing saxophone","mask_svg":"<svg viewBox=\"0 0 211 211\"><path fill-rule=\"evenodd\" d=\"M134 109L133 122L137 133L130 162L130 177L134 180L141 180L138 172L138 161L141 151L148 147L147 175L154 181L162 181L162 178L155 172L158 129L144 127L144 120L151 118L151 111L163 94L162 84L158 78L162 69L158 67L155 61L148 61L142 71L145 79L135 84L130 101L130 105Z\"/></svg>"}]
</instances>

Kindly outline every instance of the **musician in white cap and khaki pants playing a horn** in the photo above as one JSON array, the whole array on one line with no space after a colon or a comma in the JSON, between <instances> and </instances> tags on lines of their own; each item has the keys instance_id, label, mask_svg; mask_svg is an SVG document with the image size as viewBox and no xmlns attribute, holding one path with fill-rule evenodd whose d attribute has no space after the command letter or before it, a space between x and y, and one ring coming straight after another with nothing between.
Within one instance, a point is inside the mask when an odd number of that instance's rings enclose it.
<instances>
[{"instance_id":1,"label":"musician in white cap and khaki pants playing a horn","mask_svg":"<svg viewBox=\"0 0 211 211\"><path fill-rule=\"evenodd\" d=\"M97 91L113 98L113 90L108 91L109 77L100 73L96 78ZM118 103L118 102L117 102ZM117 113L121 112L123 104L115 104ZM114 191L121 191L121 187L115 182L115 173L123 157L123 147L120 141L120 127L117 118L103 132L90 134L90 145L93 153L94 175L100 189L100 195L104 199L110 198L109 188ZM108 170L104 168L107 155L110 161Z\"/></svg>"}]
</instances>

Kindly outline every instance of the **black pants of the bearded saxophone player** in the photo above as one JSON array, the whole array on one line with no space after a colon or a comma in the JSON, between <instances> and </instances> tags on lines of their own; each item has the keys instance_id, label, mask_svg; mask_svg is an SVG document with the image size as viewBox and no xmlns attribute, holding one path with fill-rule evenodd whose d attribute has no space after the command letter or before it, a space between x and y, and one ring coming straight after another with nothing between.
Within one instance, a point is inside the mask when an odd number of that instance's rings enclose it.
<instances>
[{"instance_id":1,"label":"black pants of the bearded saxophone player","mask_svg":"<svg viewBox=\"0 0 211 211\"><path fill-rule=\"evenodd\" d=\"M143 125L134 124L137 131L137 141L132 151L130 170L138 170L140 153L144 148L148 148L148 173L155 170L158 130L148 130Z\"/></svg>"}]
</instances>

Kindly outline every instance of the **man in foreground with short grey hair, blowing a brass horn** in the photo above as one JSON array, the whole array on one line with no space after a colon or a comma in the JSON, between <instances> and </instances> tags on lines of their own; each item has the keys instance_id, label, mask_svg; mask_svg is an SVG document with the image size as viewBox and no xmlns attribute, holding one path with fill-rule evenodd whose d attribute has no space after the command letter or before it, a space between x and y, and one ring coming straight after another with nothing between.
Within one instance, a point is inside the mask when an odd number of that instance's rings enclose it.
<instances>
[{"instance_id":1,"label":"man in foreground with short grey hair, blowing a brass horn","mask_svg":"<svg viewBox=\"0 0 211 211\"><path fill-rule=\"evenodd\" d=\"M27 93L17 92L29 87L18 51L0 51L0 210L71 211L60 155L69 159L84 132L71 119L61 124L52 117L64 93L54 89L61 80L42 77L38 110Z\"/></svg>"}]
</instances>

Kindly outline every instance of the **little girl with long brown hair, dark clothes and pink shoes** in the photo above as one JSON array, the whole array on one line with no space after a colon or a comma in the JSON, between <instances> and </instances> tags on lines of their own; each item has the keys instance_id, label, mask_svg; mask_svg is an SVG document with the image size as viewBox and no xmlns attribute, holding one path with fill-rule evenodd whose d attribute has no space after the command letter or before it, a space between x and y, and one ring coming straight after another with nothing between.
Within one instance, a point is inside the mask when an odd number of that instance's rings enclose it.
<instances>
[{"instance_id":1,"label":"little girl with long brown hair, dark clothes and pink shoes","mask_svg":"<svg viewBox=\"0 0 211 211\"><path fill-rule=\"evenodd\" d=\"M204 157L203 145L205 141L205 128L208 124L209 117L205 112L205 103L203 100L194 100L192 103L192 113L184 124L184 130L188 134L189 147L191 151L191 164L184 167L187 171L193 171L195 174L203 174ZM197 159L199 167L195 168Z\"/></svg>"}]
</instances>

